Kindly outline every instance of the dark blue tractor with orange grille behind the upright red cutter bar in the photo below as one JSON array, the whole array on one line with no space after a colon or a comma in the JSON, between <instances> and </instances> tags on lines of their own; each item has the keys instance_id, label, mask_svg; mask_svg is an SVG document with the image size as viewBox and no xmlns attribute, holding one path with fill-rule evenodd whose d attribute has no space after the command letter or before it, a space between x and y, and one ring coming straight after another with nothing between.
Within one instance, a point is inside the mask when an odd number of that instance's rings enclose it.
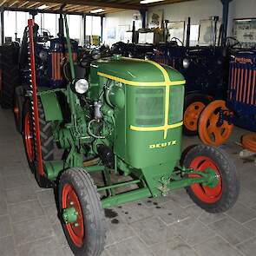
<instances>
[{"instance_id":1,"label":"dark blue tractor with orange grille behind the upright red cutter bar","mask_svg":"<svg viewBox=\"0 0 256 256\"><path fill-rule=\"evenodd\" d=\"M57 89L66 85L63 69L64 63L69 58L66 38L63 36L62 14L59 18L58 37L54 38L48 30L40 30L35 23L33 27L33 36L35 43L35 65L36 65L36 83L38 87ZM78 43L75 40L71 42L71 55L73 61L78 60L82 53L79 51ZM16 86L14 97L14 115L16 128L19 132L23 131L23 106L25 94L30 84L30 58L29 58L29 27L23 32L23 41L19 52L19 72L22 77L19 86ZM83 70L76 69L76 72L82 77Z\"/></svg>"}]
</instances>

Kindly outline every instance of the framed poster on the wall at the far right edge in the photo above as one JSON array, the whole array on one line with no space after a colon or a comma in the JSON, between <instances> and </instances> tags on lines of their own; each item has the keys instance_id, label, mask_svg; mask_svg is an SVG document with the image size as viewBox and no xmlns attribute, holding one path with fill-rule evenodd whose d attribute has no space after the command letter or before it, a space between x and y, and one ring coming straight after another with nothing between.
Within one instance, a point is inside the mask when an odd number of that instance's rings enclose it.
<instances>
[{"instance_id":1,"label":"framed poster on the wall at the far right edge","mask_svg":"<svg viewBox=\"0 0 256 256\"><path fill-rule=\"evenodd\" d=\"M252 49L256 47L256 18L234 19L233 37L242 45L242 48Z\"/></svg>"}]
</instances>

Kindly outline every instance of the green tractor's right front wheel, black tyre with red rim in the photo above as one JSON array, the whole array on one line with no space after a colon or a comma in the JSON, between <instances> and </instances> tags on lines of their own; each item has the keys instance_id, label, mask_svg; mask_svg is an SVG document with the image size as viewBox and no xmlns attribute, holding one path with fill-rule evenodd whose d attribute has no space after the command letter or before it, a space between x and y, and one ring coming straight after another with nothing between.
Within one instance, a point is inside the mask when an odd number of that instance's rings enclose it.
<instances>
[{"instance_id":1,"label":"green tractor's right front wheel, black tyre with red rim","mask_svg":"<svg viewBox=\"0 0 256 256\"><path fill-rule=\"evenodd\" d=\"M200 183L187 187L187 194L194 203L208 213L223 213L233 207L240 193L240 181L225 151L207 145L195 146L188 151L183 164L200 172L210 168L219 178L215 187Z\"/></svg>"}]
</instances>

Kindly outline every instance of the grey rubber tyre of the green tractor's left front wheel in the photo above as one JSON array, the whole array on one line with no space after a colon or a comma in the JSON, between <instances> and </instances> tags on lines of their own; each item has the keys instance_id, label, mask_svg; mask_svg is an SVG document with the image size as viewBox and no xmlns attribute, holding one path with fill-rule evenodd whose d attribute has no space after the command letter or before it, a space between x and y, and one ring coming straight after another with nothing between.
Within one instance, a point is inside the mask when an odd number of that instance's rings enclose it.
<instances>
[{"instance_id":1,"label":"grey rubber tyre of the green tractor's left front wheel","mask_svg":"<svg viewBox=\"0 0 256 256\"><path fill-rule=\"evenodd\" d=\"M105 245L106 225L105 214L94 181L81 167L73 167L64 171L60 177L58 186L60 214L62 214L62 190L67 183L75 189L75 194L78 196L82 207L85 237L82 247L75 246L69 237L66 224L62 220L62 228L69 246L75 256L100 256Z\"/></svg>"}]
</instances>

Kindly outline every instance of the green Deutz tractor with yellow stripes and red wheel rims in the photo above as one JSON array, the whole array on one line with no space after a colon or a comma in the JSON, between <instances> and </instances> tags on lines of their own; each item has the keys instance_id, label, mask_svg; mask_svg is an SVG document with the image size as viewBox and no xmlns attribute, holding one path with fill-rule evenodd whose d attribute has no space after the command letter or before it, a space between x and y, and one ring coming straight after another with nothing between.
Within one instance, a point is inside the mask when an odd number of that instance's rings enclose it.
<instances>
[{"instance_id":1,"label":"green Deutz tractor with yellow stripes and red wheel rims","mask_svg":"<svg viewBox=\"0 0 256 256\"><path fill-rule=\"evenodd\" d=\"M29 27L32 35L32 20ZM33 40L30 53L24 145L38 184L57 187L62 227L75 255L101 255L108 207L183 187L208 213L233 207L240 183L220 148L190 148L180 165L185 81L178 71L113 56L91 62L88 81L77 80L70 57L67 87L38 90ZM56 148L64 151L60 159ZM95 174L102 174L103 184L95 185ZM116 176L126 179L116 182Z\"/></svg>"}]
</instances>

